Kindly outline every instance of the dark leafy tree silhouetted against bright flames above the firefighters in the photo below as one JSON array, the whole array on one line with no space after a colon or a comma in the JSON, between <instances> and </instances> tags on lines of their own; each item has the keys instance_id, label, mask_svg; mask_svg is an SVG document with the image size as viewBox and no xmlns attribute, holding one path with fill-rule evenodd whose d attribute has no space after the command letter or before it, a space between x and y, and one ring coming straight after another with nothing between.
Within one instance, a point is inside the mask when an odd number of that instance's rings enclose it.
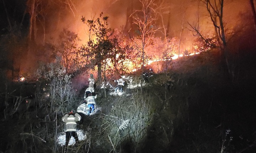
<instances>
[{"instance_id":1,"label":"dark leafy tree silhouetted against bright flames above the firefighters","mask_svg":"<svg viewBox=\"0 0 256 153\"><path fill-rule=\"evenodd\" d=\"M82 56L87 57L90 68L97 66L98 81L101 82L102 74L105 80L108 72L124 74L133 54L127 36L120 30L108 28L108 17L102 21L100 18L85 21L83 17L82 22L89 27L89 41L82 47Z\"/></svg>"}]
</instances>

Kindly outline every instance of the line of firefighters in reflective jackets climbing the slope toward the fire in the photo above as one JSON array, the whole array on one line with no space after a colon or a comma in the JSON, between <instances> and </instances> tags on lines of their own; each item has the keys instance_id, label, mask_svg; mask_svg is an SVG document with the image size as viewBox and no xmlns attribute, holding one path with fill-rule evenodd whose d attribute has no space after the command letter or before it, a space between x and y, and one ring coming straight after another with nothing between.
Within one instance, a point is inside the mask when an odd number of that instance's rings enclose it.
<instances>
[{"instance_id":1,"label":"line of firefighters in reflective jackets climbing the slope toward the fire","mask_svg":"<svg viewBox=\"0 0 256 153\"><path fill-rule=\"evenodd\" d=\"M124 77L116 80L117 87L115 92L122 91L124 86ZM89 87L85 90L84 93L84 101L77 107L76 113L74 111L70 111L64 117L62 117L62 121L65 122L66 125L66 145L64 152L67 152L68 143L73 136L75 138L75 144L78 143L78 136L77 136L77 123L83 123L85 116L90 115L94 112L94 106L96 105L95 99L97 95L94 90L94 83L95 80L93 78L93 74L90 74L89 78Z\"/></svg>"}]
</instances>

